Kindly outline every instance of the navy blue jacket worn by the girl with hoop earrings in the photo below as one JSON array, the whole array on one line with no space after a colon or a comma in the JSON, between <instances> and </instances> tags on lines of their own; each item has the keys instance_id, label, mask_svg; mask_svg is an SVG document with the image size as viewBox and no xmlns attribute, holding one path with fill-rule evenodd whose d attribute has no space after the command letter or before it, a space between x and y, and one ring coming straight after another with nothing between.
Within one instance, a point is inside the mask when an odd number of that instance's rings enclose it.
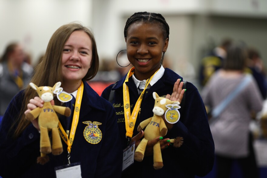
<instances>
[{"instance_id":1,"label":"navy blue jacket worn by the girl with hoop earrings","mask_svg":"<svg viewBox=\"0 0 267 178\"><path fill-rule=\"evenodd\" d=\"M125 76L126 77L126 76ZM115 90L113 107L117 114L117 123L120 130L120 139L122 140L121 149L126 148L127 139L125 138L125 118L123 109L123 82L125 77L117 82L113 88ZM177 79L182 79L170 69L165 69L164 75L153 86L150 87L141 103L140 114L134 127L134 135L137 132L137 126L140 122L153 116L153 107L155 100L152 96L153 92L157 92L159 96L166 96L173 91L174 83ZM129 87L131 112L134 109L139 95L134 81L130 77L126 83ZM112 85L107 87L102 97L109 98ZM169 146L162 150L163 168L154 170L153 156L145 156L142 162L134 162L132 166L123 171L123 177L191 177L195 175L204 176L208 174L214 163L214 142L208 124L207 114L202 102L201 96L197 88L187 82L186 92L181 104L180 120L174 124L171 130L168 130L165 138L176 138L181 136L184 143L179 148Z\"/></svg>"}]
</instances>

